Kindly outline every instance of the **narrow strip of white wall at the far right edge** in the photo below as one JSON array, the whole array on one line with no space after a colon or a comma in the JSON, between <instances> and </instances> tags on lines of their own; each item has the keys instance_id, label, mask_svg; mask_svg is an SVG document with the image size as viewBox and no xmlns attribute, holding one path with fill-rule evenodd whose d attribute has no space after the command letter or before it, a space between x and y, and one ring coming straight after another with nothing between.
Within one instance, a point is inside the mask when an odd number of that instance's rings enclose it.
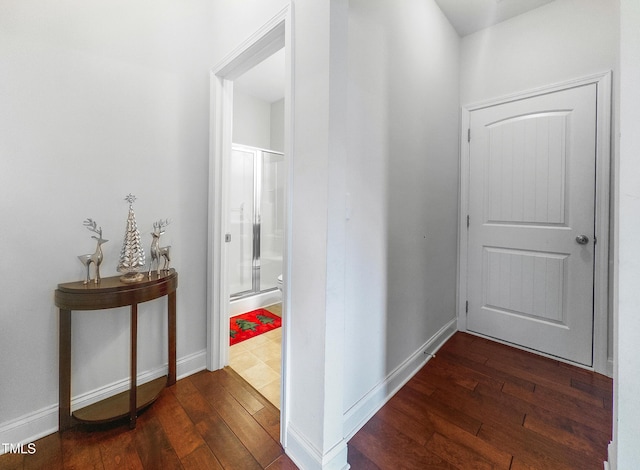
<instances>
[{"instance_id":1,"label":"narrow strip of white wall at the far right edge","mask_svg":"<svg viewBox=\"0 0 640 470\"><path fill-rule=\"evenodd\" d=\"M616 367L614 370L613 470L640 462L640 5L620 2L620 155L616 188Z\"/></svg>"}]
</instances>

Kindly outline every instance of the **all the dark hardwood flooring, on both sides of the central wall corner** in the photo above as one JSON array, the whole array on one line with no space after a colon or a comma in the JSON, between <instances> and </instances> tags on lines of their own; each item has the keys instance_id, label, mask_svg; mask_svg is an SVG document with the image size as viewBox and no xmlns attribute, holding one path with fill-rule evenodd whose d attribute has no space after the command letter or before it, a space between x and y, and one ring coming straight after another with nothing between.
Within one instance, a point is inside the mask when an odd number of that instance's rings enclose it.
<instances>
[{"instance_id":1,"label":"all the dark hardwood flooring, on both sides of the central wall corner","mask_svg":"<svg viewBox=\"0 0 640 470\"><path fill-rule=\"evenodd\" d=\"M456 333L350 441L355 470L603 468L611 379ZM0 469L295 469L279 412L233 371L165 389L138 419L77 427Z\"/></svg>"}]
</instances>

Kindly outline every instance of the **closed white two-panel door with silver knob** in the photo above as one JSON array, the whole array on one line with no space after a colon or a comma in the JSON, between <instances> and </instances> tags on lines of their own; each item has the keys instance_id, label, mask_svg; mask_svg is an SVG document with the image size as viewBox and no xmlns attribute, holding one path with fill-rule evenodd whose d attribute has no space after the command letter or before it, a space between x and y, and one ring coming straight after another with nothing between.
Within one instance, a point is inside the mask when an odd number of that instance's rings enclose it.
<instances>
[{"instance_id":1,"label":"closed white two-panel door with silver knob","mask_svg":"<svg viewBox=\"0 0 640 470\"><path fill-rule=\"evenodd\" d=\"M470 113L467 329L593 362L596 85Z\"/></svg>"}]
</instances>

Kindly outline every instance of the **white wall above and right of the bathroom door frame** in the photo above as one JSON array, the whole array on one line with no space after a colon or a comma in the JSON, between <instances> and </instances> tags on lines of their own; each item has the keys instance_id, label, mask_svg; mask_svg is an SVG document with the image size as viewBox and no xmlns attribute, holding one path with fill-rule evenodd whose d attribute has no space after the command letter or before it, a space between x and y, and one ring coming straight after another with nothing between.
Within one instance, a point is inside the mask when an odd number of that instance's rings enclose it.
<instances>
[{"instance_id":1,"label":"white wall above and right of the bathroom door frame","mask_svg":"<svg viewBox=\"0 0 640 470\"><path fill-rule=\"evenodd\" d=\"M214 2L216 17L215 43L221 47L220 58L254 34L287 2ZM294 182L290 234L290 270L285 323L288 325L289 361L285 395L287 397L286 450L301 468L342 468L346 463L346 444L342 435L342 373L340 361L342 312L335 305L336 295L330 282L340 284L340 268L328 260L332 236L339 229L329 227L330 157L336 157L338 138L330 135L329 122L338 105L331 101L330 83L345 77L346 66L337 64L330 50L330 38L342 33L332 31L346 24L346 2L298 0L291 6L295 30L295 140L290 159ZM342 14L339 14L342 12ZM332 24L332 15L336 23ZM346 32L346 29L345 29ZM344 51L344 40L332 45ZM337 67L334 67L337 65ZM336 74L338 77L336 77ZM341 167L335 169L339 178ZM340 194L344 194L341 191ZM342 214L336 215L337 220ZM339 299L337 301L339 303ZM331 320L329 320L331 317ZM333 321L336 320L336 321ZM337 335L334 333L338 333ZM326 340L329 339L327 345ZM327 357L330 356L330 357ZM337 372L336 372L337 368Z\"/></svg>"}]
</instances>

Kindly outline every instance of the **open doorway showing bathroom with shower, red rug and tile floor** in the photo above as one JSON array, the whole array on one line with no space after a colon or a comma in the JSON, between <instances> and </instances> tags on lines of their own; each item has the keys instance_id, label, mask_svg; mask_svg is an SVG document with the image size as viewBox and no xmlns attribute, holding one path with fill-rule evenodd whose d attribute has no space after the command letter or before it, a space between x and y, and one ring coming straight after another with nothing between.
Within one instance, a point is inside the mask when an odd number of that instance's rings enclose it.
<instances>
[{"instance_id":1,"label":"open doorway showing bathroom with shower, red rug and tile floor","mask_svg":"<svg viewBox=\"0 0 640 470\"><path fill-rule=\"evenodd\" d=\"M229 367L280 409L285 228L284 49L234 80L225 247ZM248 339L239 341L240 338Z\"/></svg>"}]
</instances>

